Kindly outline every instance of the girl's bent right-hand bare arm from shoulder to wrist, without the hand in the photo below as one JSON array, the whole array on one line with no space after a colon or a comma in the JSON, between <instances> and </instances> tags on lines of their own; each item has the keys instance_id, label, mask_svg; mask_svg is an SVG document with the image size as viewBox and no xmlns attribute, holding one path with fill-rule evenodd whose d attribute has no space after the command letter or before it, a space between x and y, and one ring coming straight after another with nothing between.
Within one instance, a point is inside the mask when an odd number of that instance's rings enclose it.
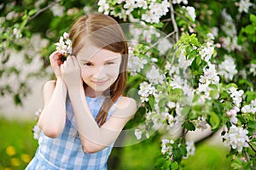
<instances>
[{"instance_id":1,"label":"girl's bent right-hand bare arm from shoulder to wrist, without the hand","mask_svg":"<svg viewBox=\"0 0 256 170\"><path fill-rule=\"evenodd\" d=\"M84 151L89 153L103 150L109 144L112 144L118 138L126 122L137 111L137 104L134 99L122 97L119 99L112 116L102 127L99 127L90 113L83 87L81 86L79 90L74 88L67 89Z\"/></svg>"}]
</instances>

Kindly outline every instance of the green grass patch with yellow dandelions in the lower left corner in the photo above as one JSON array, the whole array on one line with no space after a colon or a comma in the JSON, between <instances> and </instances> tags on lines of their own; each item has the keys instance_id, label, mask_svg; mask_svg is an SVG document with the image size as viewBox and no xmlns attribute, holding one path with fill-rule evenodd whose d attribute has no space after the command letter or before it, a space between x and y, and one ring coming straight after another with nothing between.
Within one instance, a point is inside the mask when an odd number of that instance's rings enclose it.
<instances>
[{"instance_id":1,"label":"green grass patch with yellow dandelions in the lower left corner","mask_svg":"<svg viewBox=\"0 0 256 170\"><path fill-rule=\"evenodd\" d=\"M32 159L38 147L32 136L33 125L0 118L0 170L24 169Z\"/></svg>"}]
</instances>

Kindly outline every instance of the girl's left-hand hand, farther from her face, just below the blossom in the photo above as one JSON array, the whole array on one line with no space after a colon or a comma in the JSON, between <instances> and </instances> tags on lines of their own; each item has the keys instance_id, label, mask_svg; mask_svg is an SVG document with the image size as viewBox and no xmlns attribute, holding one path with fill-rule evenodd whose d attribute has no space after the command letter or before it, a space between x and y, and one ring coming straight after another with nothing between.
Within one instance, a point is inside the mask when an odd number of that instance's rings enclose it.
<instances>
[{"instance_id":1,"label":"girl's left-hand hand, farther from her face, just below the blossom","mask_svg":"<svg viewBox=\"0 0 256 170\"><path fill-rule=\"evenodd\" d=\"M61 57L62 57L62 54L57 51L49 55L50 65L53 71L55 72L55 77L61 77L61 70L60 70L61 68L60 66L62 64Z\"/></svg>"}]
</instances>

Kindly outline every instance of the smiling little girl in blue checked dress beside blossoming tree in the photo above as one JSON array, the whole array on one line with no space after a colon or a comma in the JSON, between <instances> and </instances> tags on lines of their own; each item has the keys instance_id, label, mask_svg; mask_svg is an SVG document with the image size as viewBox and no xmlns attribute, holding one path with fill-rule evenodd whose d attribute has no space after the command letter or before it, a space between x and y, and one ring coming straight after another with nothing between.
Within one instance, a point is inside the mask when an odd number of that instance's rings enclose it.
<instances>
[{"instance_id":1,"label":"smiling little girl in blue checked dress beside blossoming tree","mask_svg":"<svg viewBox=\"0 0 256 170\"><path fill-rule=\"evenodd\" d=\"M73 55L49 56L55 81L44 84L42 133L27 170L107 169L114 141L137 111L122 96L128 48L124 32L104 14L81 17L70 31Z\"/></svg>"}]
</instances>

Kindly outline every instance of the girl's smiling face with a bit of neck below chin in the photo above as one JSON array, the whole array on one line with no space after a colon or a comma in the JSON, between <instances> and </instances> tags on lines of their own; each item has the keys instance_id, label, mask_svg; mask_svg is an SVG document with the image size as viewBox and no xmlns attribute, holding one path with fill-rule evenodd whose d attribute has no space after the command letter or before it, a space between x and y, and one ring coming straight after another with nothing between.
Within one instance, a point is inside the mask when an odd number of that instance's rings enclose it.
<instances>
[{"instance_id":1,"label":"girl's smiling face with a bit of neck below chin","mask_svg":"<svg viewBox=\"0 0 256 170\"><path fill-rule=\"evenodd\" d=\"M88 85L86 95L102 95L119 76L121 54L97 48L86 41L77 54L82 80Z\"/></svg>"}]
</instances>

